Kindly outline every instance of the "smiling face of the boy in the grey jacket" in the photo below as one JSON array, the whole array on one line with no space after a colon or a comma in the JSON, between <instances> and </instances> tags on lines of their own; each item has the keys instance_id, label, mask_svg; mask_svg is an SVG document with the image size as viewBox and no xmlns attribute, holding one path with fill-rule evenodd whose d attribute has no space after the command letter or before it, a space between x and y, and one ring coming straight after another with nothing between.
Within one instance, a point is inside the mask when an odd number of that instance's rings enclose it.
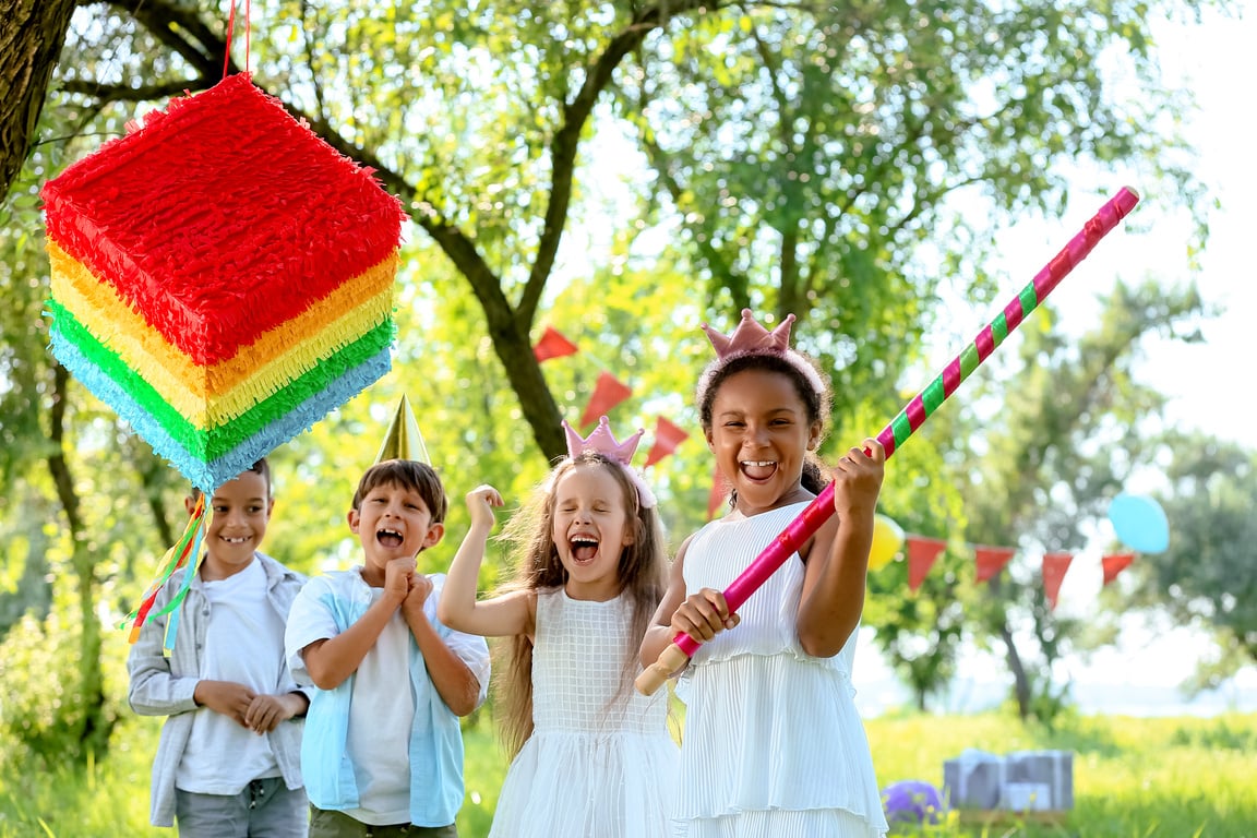
<instances>
[{"instance_id":1,"label":"smiling face of the boy in the grey jacket","mask_svg":"<svg viewBox=\"0 0 1257 838\"><path fill-rule=\"evenodd\" d=\"M189 501L189 513L195 500ZM206 582L226 579L244 570L266 534L270 521L270 486L256 471L245 471L214 490L209 499L210 524L205 530L205 560L201 578Z\"/></svg>"}]
</instances>

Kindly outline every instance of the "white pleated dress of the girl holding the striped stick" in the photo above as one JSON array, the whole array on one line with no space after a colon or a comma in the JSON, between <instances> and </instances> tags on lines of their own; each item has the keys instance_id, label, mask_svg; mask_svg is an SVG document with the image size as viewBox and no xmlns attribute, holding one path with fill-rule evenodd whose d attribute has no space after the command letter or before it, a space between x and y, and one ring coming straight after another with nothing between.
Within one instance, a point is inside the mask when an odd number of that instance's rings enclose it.
<instances>
[{"instance_id":1,"label":"white pleated dress of the girl holding the striped stick","mask_svg":"<svg viewBox=\"0 0 1257 838\"><path fill-rule=\"evenodd\" d=\"M685 589L724 590L804 506L709 523L686 549ZM833 657L804 653L802 585L803 562L792 555L681 677L678 835L879 838L889 829L854 701L855 632Z\"/></svg>"}]
</instances>

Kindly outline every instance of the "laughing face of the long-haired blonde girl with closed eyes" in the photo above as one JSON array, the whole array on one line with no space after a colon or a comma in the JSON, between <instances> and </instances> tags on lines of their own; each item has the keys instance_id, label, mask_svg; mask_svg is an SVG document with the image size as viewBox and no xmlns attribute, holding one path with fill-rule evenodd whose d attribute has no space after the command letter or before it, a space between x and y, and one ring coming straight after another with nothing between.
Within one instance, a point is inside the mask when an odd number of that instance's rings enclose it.
<instances>
[{"instance_id":1,"label":"laughing face of the long-haired blonde girl with closed eyes","mask_svg":"<svg viewBox=\"0 0 1257 838\"><path fill-rule=\"evenodd\" d=\"M620 593L620 554L632 544L623 482L603 464L576 465L554 484L551 539L573 599L606 602Z\"/></svg>"}]
</instances>

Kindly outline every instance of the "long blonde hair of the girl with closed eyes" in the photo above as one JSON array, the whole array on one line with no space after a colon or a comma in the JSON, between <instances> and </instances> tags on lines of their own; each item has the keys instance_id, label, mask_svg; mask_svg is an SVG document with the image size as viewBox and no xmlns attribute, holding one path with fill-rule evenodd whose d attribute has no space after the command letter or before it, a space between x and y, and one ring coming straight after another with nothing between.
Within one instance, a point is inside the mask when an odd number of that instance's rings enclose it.
<instances>
[{"instance_id":1,"label":"long blonde hair of the girl with closed eyes","mask_svg":"<svg viewBox=\"0 0 1257 838\"><path fill-rule=\"evenodd\" d=\"M627 597L632 608L630 642L623 650L621 692L625 692L631 688L639 667L637 643L632 638L640 639L646 633L667 584L667 549L659 515L654 508L641 505L625 466L597 451L586 451L564 457L551 470L503 529L500 538L513 545L515 573L499 593L551 590L567 584L567 569L553 540L554 487L563 475L586 465L601 466L615 476L632 528L632 543L621 549L617 567L620 594ZM498 671L505 673L495 678L495 706L502 712L503 744L514 758L533 732L533 641L527 634L507 638L495 647L495 657Z\"/></svg>"}]
</instances>

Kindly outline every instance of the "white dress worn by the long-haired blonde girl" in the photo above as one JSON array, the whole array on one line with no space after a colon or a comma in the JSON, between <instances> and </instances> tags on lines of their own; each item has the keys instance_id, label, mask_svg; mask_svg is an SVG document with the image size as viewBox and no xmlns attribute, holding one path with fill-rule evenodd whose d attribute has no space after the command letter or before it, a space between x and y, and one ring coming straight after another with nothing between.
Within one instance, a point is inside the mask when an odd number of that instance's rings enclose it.
<instances>
[{"instance_id":1,"label":"white dress worn by the long-haired blonde girl","mask_svg":"<svg viewBox=\"0 0 1257 838\"><path fill-rule=\"evenodd\" d=\"M537 596L533 735L510 764L490 838L665 838L679 753L667 691L625 672L631 604Z\"/></svg>"}]
</instances>

